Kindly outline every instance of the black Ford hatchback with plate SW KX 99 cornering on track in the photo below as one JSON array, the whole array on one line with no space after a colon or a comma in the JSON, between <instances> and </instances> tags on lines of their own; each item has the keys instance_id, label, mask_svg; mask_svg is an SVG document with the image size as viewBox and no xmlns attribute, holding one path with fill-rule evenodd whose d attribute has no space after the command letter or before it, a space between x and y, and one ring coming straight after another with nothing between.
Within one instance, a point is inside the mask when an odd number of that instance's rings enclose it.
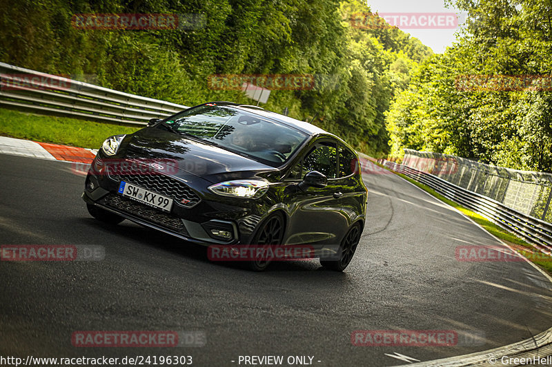
<instances>
[{"instance_id":1,"label":"black Ford hatchback with plate SW KX 99 cornering on track","mask_svg":"<svg viewBox=\"0 0 552 367\"><path fill-rule=\"evenodd\" d=\"M108 138L83 200L103 222L124 219L204 245L313 246L343 271L366 218L355 151L314 125L260 107L197 105ZM264 269L266 259L248 262Z\"/></svg>"}]
</instances>

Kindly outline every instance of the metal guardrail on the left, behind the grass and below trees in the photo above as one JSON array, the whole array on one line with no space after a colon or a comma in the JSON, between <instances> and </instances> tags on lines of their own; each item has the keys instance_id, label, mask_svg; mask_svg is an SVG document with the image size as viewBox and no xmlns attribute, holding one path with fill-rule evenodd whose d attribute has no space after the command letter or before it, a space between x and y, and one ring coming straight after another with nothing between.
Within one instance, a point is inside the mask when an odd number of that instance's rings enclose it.
<instances>
[{"instance_id":1,"label":"metal guardrail on the left, behind the grass and below trees","mask_svg":"<svg viewBox=\"0 0 552 367\"><path fill-rule=\"evenodd\" d=\"M6 63L0 63L0 107L125 125L188 108Z\"/></svg>"}]
</instances>

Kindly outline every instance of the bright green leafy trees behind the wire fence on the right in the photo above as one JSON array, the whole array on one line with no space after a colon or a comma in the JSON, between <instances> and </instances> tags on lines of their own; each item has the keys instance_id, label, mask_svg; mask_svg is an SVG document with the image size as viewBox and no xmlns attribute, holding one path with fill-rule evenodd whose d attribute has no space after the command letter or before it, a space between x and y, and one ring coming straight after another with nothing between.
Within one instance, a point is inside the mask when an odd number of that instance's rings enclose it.
<instances>
[{"instance_id":1,"label":"bright green leafy trees behind the wire fence on the right","mask_svg":"<svg viewBox=\"0 0 552 367\"><path fill-rule=\"evenodd\" d=\"M391 154L408 147L552 171L552 3L454 4L468 12L466 28L413 71L386 113Z\"/></svg>"}]
</instances>

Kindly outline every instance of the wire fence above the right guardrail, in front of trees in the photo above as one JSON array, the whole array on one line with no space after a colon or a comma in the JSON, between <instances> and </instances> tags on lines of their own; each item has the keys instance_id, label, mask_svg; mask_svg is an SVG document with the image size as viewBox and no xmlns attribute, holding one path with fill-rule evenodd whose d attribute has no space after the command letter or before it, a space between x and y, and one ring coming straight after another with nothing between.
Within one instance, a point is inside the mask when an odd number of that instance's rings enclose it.
<instances>
[{"instance_id":1,"label":"wire fence above the right guardrail, in front of trees","mask_svg":"<svg viewBox=\"0 0 552 367\"><path fill-rule=\"evenodd\" d=\"M404 149L402 165L433 174L527 216L552 222L552 174L519 171L466 158Z\"/></svg>"}]
</instances>

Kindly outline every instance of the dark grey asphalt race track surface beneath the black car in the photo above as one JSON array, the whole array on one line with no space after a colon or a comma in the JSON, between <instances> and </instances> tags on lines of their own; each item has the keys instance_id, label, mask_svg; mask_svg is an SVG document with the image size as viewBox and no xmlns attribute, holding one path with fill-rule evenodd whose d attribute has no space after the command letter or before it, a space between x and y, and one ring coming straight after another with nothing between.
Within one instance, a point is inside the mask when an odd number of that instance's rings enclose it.
<instances>
[{"instance_id":1,"label":"dark grey asphalt race track surface beneath the black car","mask_svg":"<svg viewBox=\"0 0 552 367\"><path fill-rule=\"evenodd\" d=\"M84 178L70 163L0 155L0 172L0 244L106 249L97 262L0 262L3 356L191 355L194 366L239 366L239 355L304 355L315 366L395 366L406 362L386 353L451 357L552 326L544 275L526 262L457 261L457 246L497 241L392 174L364 175L368 221L344 273L318 260L253 273L209 262L203 247L131 222L110 227L92 219L80 198ZM353 331L402 329L483 339L468 346L351 343ZM200 331L206 346L71 343L75 331L167 330Z\"/></svg>"}]
</instances>

